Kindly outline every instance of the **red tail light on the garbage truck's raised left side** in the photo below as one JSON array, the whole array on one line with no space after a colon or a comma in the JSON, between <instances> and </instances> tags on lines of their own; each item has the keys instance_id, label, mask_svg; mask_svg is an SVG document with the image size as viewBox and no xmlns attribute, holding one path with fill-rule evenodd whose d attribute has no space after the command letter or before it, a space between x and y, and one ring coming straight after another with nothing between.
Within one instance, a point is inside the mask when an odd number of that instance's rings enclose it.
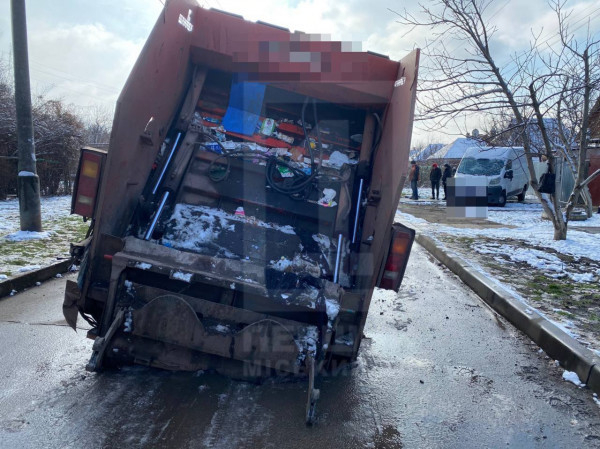
<instances>
[{"instance_id":1,"label":"red tail light on the garbage truck's raised left side","mask_svg":"<svg viewBox=\"0 0 600 449\"><path fill-rule=\"evenodd\" d=\"M79 158L79 168L75 178L71 213L82 217L94 217L96 196L100 176L106 159L106 151L96 148L83 148Z\"/></svg>"}]
</instances>

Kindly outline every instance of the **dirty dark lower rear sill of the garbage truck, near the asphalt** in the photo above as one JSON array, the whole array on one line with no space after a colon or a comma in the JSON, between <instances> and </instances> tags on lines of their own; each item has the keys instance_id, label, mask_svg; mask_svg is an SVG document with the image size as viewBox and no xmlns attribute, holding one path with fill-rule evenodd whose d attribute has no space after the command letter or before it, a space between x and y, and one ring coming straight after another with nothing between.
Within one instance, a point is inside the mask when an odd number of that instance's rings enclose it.
<instances>
[{"instance_id":1,"label":"dirty dark lower rear sill of the garbage truck, near the asphalt","mask_svg":"<svg viewBox=\"0 0 600 449\"><path fill-rule=\"evenodd\" d=\"M125 319L101 350L107 359L175 370L219 365L220 358L240 362L246 374L256 367L302 373L309 357L324 359L337 318L331 310L339 310L343 289L321 280L320 289L297 289L292 297L289 289L268 289L250 280L261 277L265 268L245 261L128 237L112 258L101 329L111 328L118 312ZM163 350L156 351L158 346ZM177 352L185 355L173 360Z\"/></svg>"}]
</instances>

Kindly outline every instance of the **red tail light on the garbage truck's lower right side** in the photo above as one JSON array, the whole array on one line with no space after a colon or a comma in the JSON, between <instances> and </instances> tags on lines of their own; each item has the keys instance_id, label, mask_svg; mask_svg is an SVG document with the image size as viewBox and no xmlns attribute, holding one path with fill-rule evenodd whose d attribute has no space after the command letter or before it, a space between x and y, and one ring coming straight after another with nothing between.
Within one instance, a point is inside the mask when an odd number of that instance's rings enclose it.
<instances>
[{"instance_id":1,"label":"red tail light on the garbage truck's lower right side","mask_svg":"<svg viewBox=\"0 0 600 449\"><path fill-rule=\"evenodd\" d=\"M414 239L414 230L398 223L393 225L392 241L378 287L398 291Z\"/></svg>"}]
</instances>

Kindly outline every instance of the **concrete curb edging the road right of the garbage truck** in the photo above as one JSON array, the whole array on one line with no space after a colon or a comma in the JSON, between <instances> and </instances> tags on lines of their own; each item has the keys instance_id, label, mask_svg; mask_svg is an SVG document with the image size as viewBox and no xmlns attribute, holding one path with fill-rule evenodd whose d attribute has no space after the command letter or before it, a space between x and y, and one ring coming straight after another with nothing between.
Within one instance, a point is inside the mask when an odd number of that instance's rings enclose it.
<instances>
[{"instance_id":1,"label":"concrete curb edging the road right of the garbage truck","mask_svg":"<svg viewBox=\"0 0 600 449\"><path fill-rule=\"evenodd\" d=\"M416 241L546 354L558 360L565 369L577 373L581 382L600 394L600 358L592 351L430 237L417 234Z\"/></svg>"}]
</instances>

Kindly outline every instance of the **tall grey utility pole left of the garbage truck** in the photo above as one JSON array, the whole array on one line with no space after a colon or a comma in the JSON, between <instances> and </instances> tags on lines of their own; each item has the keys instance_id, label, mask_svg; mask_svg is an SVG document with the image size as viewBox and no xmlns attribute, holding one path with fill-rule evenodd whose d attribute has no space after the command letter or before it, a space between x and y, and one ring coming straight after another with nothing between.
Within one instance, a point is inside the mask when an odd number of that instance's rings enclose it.
<instances>
[{"instance_id":1,"label":"tall grey utility pole left of the garbage truck","mask_svg":"<svg viewBox=\"0 0 600 449\"><path fill-rule=\"evenodd\" d=\"M21 231L41 231L40 178L35 168L29 56L27 52L27 19L25 0L11 0L15 103L17 106L17 147L19 150L19 212Z\"/></svg>"}]
</instances>

